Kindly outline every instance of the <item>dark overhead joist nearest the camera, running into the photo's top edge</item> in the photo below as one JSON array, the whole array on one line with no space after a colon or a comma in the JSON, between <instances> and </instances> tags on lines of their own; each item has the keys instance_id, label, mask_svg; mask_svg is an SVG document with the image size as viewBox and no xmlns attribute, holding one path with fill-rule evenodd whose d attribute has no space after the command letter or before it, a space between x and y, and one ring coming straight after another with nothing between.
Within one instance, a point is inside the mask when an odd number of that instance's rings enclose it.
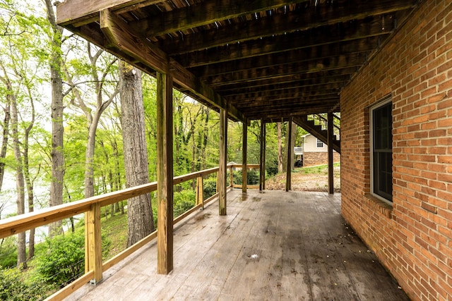
<instances>
[{"instance_id":1,"label":"dark overhead joist nearest the camera, running into the photo's top edge","mask_svg":"<svg viewBox=\"0 0 452 301\"><path fill-rule=\"evenodd\" d=\"M309 0L206 0L184 8L160 13L153 18L137 20L132 22L131 26L136 30L145 32L146 37L157 37L307 1Z\"/></svg>"}]
</instances>

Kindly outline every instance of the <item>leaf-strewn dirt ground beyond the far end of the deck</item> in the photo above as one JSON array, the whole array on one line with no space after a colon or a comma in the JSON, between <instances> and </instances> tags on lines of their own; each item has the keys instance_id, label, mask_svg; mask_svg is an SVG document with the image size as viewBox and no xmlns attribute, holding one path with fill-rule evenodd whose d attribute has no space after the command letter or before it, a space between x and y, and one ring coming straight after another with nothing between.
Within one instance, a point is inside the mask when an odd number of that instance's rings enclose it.
<instances>
[{"instance_id":1,"label":"leaf-strewn dirt ground beyond the far end of the deck","mask_svg":"<svg viewBox=\"0 0 452 301\"><path fill-rule=\"evenodd\" d=\"M292 190L328 192L328 170L319 168L314 172L312 166L295 168L292 171ZM266 180L266 190L285 190L286 174L280 173ZM340 166L334 166L334 192L340 192Z\"/></svg>"}]
</instances>

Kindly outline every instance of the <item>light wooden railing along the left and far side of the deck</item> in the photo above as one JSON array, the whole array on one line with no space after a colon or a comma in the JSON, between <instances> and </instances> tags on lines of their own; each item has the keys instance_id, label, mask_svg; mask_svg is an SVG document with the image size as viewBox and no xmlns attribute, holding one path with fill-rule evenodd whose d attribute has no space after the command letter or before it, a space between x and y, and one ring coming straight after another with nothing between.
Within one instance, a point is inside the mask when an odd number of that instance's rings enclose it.
<instances>
[{"instance_id":1,"label":"light wooden railing along the left and far side of the deck","mask_svg":"<svg viewBox=\"0 0 452 301\"><path fill-rule=\"evenodd\" d=\"M227 168L230 168L230 186L234 186L232 182L232 170L234 167L242 167L239 164L230 164ZM249 168L258 168L258 164L250 164ZM197 171L195 173L189 173L183 176L177 176L173 179L173 185L178 185L180 183L186 182L188 180L193 180L196 178L196 204L193 208L186 211L184 214L177 216L174 219L173 224L182 221L186 216L203 209L204 204L207 204L212 199L218 196L218 185L217 193L208 199L203 197L203 178L210 175L211 173L217 173L218 180L218 167L206 169L204 171ZM249 186L249 188L252 188ZM85 246L88 250L85 250L85 274L80 278L76 279L65 288L59 290L54 295L51 295L47 300L61 300L64 297L71 295L75 290L81 288L93 279L102 279L102 272L117 264L122 259L128 257L130 254L143 247L151 240L157 237L157 231L150 233L147 237L143 238L136 244L127 248L126 250L120 252L115 257L102 263L102 238L100 235L101 223L100 223L100 208L114 204L116 202L121 202L138 195L143 195L149 192L157 190L157 182L148 183L144 185L139 185L133 188L126 188L124 190L119 190L115 192L109 192L104 195L98 195L95 197L89 197L88 199L81 199L76 202L71 202L68 204L61 204L59 206L49 207L42 209L40 211L31 212L28 214L21 214L18 216L13 216L8 219L0 220L0 238L6 238L11 235L15 235L32 228L37 228L40 226L53 223L55 221L61 221L67 219L71 216L76 216L78 214L85 213L85 227L88 231L85 231Z\"/></svg>"}]
</instances>

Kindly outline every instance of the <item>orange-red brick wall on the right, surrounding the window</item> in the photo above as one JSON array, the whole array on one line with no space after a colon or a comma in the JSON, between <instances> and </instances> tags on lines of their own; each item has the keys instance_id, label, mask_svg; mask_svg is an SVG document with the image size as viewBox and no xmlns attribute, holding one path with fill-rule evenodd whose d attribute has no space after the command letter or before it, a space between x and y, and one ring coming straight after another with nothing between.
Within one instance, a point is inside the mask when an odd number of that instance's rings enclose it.
<instances>
[{"instance_id":1,"label":"orange-red brick wall on the right, surrounding the window","mask_svg":"<svg viewBox=\"0 0 452 301\"><path fill-rule=\"evenodd\" d=\"M452 3L408 19L341 93L342 212L413 300L452 300ZM369 106L388 94L393 207L369 193Z\"/></svg>"}]
</instances>

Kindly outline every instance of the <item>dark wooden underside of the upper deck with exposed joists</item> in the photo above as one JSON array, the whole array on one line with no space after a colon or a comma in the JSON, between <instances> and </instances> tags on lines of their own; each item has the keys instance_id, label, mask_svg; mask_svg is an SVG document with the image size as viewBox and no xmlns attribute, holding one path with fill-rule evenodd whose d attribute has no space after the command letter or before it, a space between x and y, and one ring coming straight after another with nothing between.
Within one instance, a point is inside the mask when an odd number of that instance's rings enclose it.
<instances>
[{"instance_id":1,"label":"dark wooden underside of the upper deck with exposed joists","mask_svg":"<svg viewBox=\"0 0 452 301\"><path fill-rule=\"evenodd\" d=\"M66 0L60 25L235 120L340 111L413 0Z\"/></svg>"}]
</instances>

